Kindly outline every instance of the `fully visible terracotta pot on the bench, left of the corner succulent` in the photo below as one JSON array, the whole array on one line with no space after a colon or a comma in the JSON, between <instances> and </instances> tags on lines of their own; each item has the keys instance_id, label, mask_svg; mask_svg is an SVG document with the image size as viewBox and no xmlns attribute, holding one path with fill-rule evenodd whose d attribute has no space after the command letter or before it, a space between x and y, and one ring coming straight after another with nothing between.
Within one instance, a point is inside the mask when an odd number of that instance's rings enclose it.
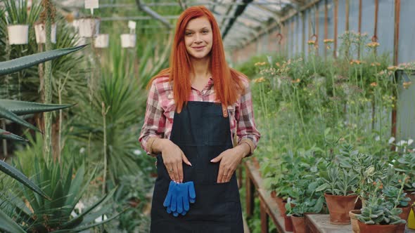
<instances>
[{"instance_id":1,"label":"fully visible terracotta pot on the bench, left of the corner succulent","mask_svg":"<svg viewBox=\"0 0 415 233\"><path fill-rule=\"evenodd\" d=\"M326 198L328 212L330 213L330 223L335 225L350 224L349 211L355 208L357 195L337 196L324 194Z\"/></svg>"}]
</instances>

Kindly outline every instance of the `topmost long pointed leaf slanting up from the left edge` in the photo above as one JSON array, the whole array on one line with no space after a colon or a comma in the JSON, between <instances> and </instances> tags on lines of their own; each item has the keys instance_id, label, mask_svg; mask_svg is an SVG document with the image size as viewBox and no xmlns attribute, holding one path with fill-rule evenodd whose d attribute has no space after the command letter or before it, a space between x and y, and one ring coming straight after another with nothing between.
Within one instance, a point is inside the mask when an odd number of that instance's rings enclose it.
<instances>
[{"instance_id":1,"label":"topmost long pointed leaf slanting up from the left edge","mask_svg":"<svg viewBox=\"0 0 415 233\"><path fill-rule=\"evenodd\" d=\"M43 53L35 53L32 55L27 55L22 58L8 60L6 62L0 62L0 76L18 72L27 67L31 67L33 65L37 65L39 63L46 62L48 60L52 60L54 58L59 58L63 55L67 55L69 53L78 51L79 49L84 48L85 46L87 45L77 46L77 47L72 47L72 48L60 48L60 49L55 49L52 51L46 51Z\"/></svg>"}]
</instances>

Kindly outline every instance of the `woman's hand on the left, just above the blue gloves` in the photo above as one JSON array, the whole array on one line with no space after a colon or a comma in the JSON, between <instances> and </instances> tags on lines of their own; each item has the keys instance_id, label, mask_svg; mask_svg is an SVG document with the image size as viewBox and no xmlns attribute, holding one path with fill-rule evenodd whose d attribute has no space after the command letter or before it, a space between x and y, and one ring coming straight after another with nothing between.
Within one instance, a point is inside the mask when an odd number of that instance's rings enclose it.
<instances>
[{"instance_id":1,"label":"woman's hand on the left, just above the blue gloves","mask_svg":"<svg viewBox=\"0 0 415 233\"><path fill-rule=\"evenodd\" d=\"M160 139L160 151L163 163L170 175L170 179L174 182L183 182L183 162L189 166L191 163L186 158L180 147L174 144L171 140Z\"/></svg>"}]
</instances>

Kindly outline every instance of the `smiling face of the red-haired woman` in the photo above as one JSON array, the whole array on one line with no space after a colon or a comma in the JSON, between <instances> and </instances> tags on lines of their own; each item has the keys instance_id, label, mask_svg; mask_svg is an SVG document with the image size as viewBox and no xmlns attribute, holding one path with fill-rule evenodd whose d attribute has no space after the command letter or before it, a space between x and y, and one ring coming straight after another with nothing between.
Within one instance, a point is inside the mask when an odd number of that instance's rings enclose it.
<instances>
[{"instance_id":1,"label":"smiling face of the red-haired woman","mask_svg":"<svg viewBox=\"0 0 415 233\"><path fill-rule=\"evenodd\" d=\"M212 38L212 26L208 18L195 18L187 23L184 44L192 58L206 58L212 50Z\"/></svg>"}]
</instances>

